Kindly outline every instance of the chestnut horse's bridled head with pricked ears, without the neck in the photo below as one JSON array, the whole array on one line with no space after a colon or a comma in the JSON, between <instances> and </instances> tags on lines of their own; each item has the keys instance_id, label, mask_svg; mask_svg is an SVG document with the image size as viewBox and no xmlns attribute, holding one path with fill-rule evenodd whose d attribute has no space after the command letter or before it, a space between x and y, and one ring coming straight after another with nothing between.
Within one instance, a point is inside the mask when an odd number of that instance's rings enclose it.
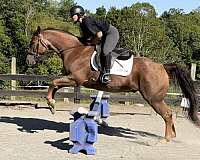
<instances>
[{"instance_id":1,"label":"chestnut horse's bridled head with pricked ears, without the neck","mask_svg":"<svg viewBox=\"0 0 200 160\"><path fill-rule=\"evenodd\" d=\"M26 63L28 65L34 65L38 61L39 57L43 55L51 47L51 43L44 38L41 33L41 28L38 26L37 31L33 34L30 46L28 49Z\"/></svg>"}]
</instances>

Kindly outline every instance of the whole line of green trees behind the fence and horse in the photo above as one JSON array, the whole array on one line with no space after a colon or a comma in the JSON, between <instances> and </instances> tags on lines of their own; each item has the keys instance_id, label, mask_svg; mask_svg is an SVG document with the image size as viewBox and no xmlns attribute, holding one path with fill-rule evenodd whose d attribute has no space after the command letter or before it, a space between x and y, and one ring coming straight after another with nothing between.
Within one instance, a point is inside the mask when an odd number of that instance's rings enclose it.
<instances>
[{"instance_id":1,"label":"whole line of green trees behind the fence and horse","mask_svg":"<svg viewBox=\"0 0 200 160\"><path fill-rule=\"evenodd\" d=\"M0 1L0 73L10 73L11 57L17 58L17 72L61 75L62 62L52 54L30 68L25 63L30 38L37 26L58 28L81 36L78 24L69 18L73 0L1 0ZM104 6L87 14L116 26L118 47L129 48L137 56L159 63L177 63L186 67L197 63L200 78L200 7L190 13L171 8L160 16L150 3L135 3L117 9Z\"/></svg>"}]
</instances>

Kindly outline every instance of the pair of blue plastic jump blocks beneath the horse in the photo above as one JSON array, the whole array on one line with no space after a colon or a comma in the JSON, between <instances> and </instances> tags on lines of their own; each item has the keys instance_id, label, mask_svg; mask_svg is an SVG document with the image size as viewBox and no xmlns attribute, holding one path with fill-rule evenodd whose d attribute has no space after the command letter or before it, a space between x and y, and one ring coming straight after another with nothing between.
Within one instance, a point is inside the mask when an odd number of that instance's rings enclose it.
<instances>
[{"instance_id":1,"label":"pair of blue plastic jump blocks beneath the horse","mask_svg":"<svg viewBox=\"0 0 200 160\"><path fill-rule=\"evenodd\" d=\"M98 126L94 121L94 116L107 118L110 115L108 99L109 96L102 96L97 100L97 96L91 96L90 112L87 115L80 115L79 118L70 124L69 139L73 142L70 153L77 154L86 151L87 155L96 154L93 144L97 141ZM97 101L96 101L97 100Z\"/></svg>"}]
</instances>

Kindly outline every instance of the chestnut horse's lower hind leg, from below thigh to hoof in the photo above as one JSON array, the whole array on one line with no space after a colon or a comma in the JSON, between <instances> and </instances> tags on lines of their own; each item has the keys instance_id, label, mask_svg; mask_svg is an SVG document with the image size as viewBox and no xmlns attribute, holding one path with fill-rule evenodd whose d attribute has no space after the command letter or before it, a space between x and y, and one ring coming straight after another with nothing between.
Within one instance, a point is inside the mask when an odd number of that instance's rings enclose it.
<instances>
[{"instance_id":1,"label":"chestnut horse's lower hind leg, from below thigh to hoof","mask_svg":"<svg viewBox=\"0 0 200 160\"><path fill-rule=\"evenodd\" d=\"M151 101L149 104L153 107L153 109L161 115L161 117L165 121L165 138L161 140L161 143L166 143L170 141L172 138L176 137L176 131L174 122L172 119L172 110L162 101Z\"/></svg>"}]
</instances>

